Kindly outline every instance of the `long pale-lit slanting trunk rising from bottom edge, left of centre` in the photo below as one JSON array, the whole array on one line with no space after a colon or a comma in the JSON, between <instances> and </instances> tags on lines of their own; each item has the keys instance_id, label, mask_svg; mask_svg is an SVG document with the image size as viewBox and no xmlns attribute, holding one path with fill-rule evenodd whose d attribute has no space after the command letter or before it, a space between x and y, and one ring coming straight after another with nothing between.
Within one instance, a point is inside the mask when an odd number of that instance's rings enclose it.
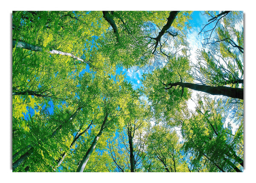
<instances>
[{"instance_id":1,"label":"long pale-lit slanting trunk rising from bottom edge, left of centre","mask_svg":"<svg viewBox=\"0 0 256 183\"><path fill-rule=\"evenodd\" d=\"M90 155L93 153L93 151L94 151L94 149L96 147L96 144L99 141L100 136L102 135L102 132L103 132L103 130L105 128L105 123L106 123L107 119L108 119L108 113L106 113L105 119L102 122L102 126L101 126L101 128L99 130L99 133L93 139L93 143L91 144L90 148L87 150L86 154L84 155L83 159L81 160L81 162L80 162L76 172L84 172L84 168L85 168L88 160L90 159Z\"/></svg>"}]
</instances>

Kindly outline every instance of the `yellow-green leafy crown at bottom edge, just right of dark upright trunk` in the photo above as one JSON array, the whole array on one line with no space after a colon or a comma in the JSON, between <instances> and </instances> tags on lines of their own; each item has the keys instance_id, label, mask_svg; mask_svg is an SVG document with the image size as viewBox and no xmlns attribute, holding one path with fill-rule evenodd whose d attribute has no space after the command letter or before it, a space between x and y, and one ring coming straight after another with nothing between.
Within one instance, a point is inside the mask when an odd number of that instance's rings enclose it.
<instances>
[{"instance_id":1,"label":"yellow-green leafy crown at bottom edge, just right of dark upright trunk","mask_svg":"<svg viewBox=\"0 0 256 183\"><path fill-rule=\"evenodd\" d=\"M152 127L148 135L148 172L188 172L180 154L181 144L177 132L163 126Z\"/></svg>"}]
</instances>

